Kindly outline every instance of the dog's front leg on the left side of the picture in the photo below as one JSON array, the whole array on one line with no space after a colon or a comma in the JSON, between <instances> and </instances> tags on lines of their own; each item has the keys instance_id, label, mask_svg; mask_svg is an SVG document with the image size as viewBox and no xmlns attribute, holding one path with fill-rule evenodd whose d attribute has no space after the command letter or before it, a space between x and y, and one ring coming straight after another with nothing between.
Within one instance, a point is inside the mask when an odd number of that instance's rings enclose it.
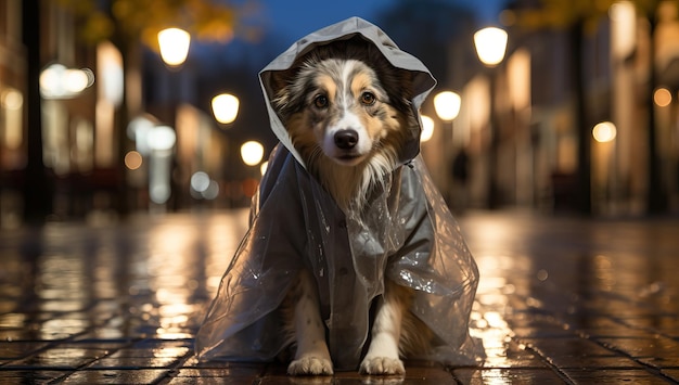
<instances>
[{"instance_id":1,"label":"dog's front leg on the left side of the picture","mask_svg":"<svg viewBox=\"0 0 679 385\"><path fill-rule=\"evenodd\" d=\"M310 273L303 270L291 288L292 328L297 345L295 359L287 367L292 375L333 374L325 328L321 320L318 293Z\"/></svg>"}]
</instances>

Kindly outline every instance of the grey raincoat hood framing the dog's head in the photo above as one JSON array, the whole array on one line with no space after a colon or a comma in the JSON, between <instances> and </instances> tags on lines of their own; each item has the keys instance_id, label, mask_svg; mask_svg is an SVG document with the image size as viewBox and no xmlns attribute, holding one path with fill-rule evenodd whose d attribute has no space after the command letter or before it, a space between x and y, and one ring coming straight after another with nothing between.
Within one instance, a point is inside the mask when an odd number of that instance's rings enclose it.
<instances>
[{"instance_id":1,"label":"grey raincoat hood framing the dog's head","mask_svg":"<svg viewBox=\"0 0 679 385\"><path fill-rule=\"evenodd\" d=\"M264 91L273 133L303 165L304 161L293 147L287 130L285 130L281 118L271 105L271 100L276 97L278 91L271 79L272 73L290 69L294 64L298 63L299 57L319 46L328 44L335 40L350 39L356 36L360 36L366 41L371 42L394 67L408 70L412 74L413 94L409 99L414 110L413 114L418 116L418 121L420 121L419 108L436 85L436 80L420 60L399 50L396 43L382 29L360 17L347 18L299 39L259 73L259 81ZM405 153L400 154L402 162L414 158L420 152L421 123L419 126L411 127L410 129L410 142L406 145Z\"/></svg>"}]
</instances>

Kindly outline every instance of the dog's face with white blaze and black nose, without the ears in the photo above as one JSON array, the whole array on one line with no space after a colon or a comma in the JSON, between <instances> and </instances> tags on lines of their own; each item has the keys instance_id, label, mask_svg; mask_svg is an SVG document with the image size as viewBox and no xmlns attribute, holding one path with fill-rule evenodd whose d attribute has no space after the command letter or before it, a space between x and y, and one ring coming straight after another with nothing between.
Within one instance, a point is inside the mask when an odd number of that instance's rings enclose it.
<instances>
[{"instance_id":1,"label":"dog's face with white blaze and black nose, without the ears","mask_svg":"<svg viewBox=\"0 0 679 385\"><path fill-rule=\"evenodd\" d=\"M303 90L303 108L287 124L293 143L319 147L341 165L361 163L400 127L375 72L363 62L329 59L305 66L293 87Z\"/></svg>"}]
</instances>

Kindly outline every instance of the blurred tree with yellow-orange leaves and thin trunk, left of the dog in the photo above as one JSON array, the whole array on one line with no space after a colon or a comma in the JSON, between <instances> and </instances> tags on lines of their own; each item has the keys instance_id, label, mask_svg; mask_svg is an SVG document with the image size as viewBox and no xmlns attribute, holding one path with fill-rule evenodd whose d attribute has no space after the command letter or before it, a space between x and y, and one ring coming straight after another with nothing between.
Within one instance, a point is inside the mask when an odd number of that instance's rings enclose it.
<instances>
[{"instance_id":1,"label":"blurred tree with yellow-orange leaves and thin trunk, left of the dog","mask_svg":"<svg viewBox=\"0 0 679 385\"><path fill-rule=\"evenodd\" d=\"M257 0L55 0L71 11L76 20L77 31L86 43L111 41L120 52L124 72L139 70L141 44L159 51L157 33L168 27L189 31L192 39L226 44L234 36L256 39L260 34L259 4ZM124 87L129 87L126 82ZM123 154L127 151L126 126L130 115L140 113L140 107L129 105L130 92L126 89L123 103L115 112L115 130L118 143L117 176L121 189L118 208L128 210L124 179Z\"/></svg>"}]
</instances>

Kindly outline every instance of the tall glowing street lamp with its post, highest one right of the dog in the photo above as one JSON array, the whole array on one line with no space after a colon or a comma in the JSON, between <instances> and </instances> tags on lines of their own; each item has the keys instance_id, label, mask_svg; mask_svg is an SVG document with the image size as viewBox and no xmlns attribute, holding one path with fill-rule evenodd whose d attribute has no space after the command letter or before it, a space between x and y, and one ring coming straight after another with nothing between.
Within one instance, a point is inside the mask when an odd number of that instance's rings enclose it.
<instances>
[{"instance_id":1,"label":"tall glowing street lamp with its post, highest one right of the dog","mask_svg":"<svg viewBox=\"0 0 679 385\"><path fill-rule=\"evenodd\" d=\"M487 205L488 208L497 208L499 204L499 189L496 178L497 163L498 163L498 121L495 112L495 98L496 98L496 70L495 68L504 59L504 52L507 51L507 31L497 27L486 27L477 30L474 34L474 46L476 47L476 53L478 60L488 68L490 68L490 118L489 118L489 137L490 137L490 152L488 154L488 195Z\"/></svg>"}]
</instances>

